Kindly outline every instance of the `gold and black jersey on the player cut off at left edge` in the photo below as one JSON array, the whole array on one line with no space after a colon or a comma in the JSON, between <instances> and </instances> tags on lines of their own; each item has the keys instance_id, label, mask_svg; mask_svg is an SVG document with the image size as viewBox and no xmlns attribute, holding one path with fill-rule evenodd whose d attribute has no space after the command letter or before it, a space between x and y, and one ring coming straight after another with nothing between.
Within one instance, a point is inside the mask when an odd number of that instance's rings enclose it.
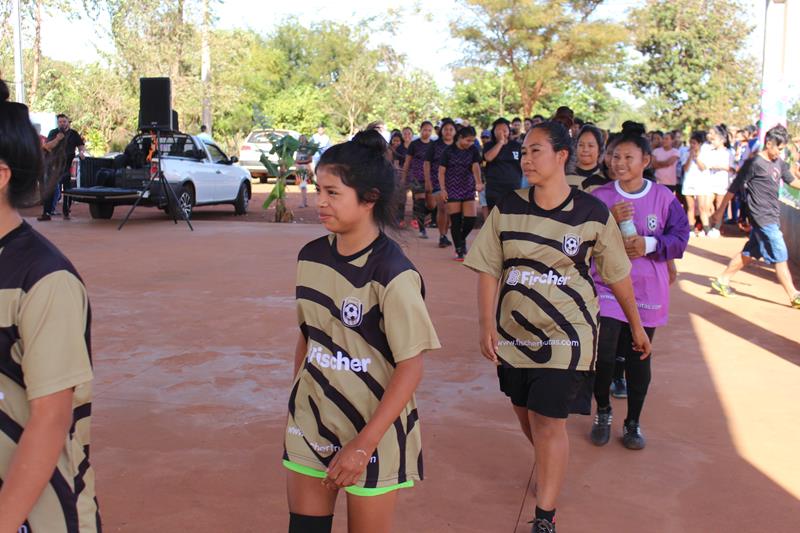
<instances>
[{"instance_id":1,"label":"gold and black jersey on the player cut off at left edge","mask_svg":"<svg viewBox=\"0 0 800 533\"><path fill-rule=\"evenodd\" d=\"M89 464L90 324L86 288L55 246L27 223L0 239L0 484L30 419L31 402L74 389L72 427L50 482L20 531L101 530Z\"/></svg>"}]
</instances>

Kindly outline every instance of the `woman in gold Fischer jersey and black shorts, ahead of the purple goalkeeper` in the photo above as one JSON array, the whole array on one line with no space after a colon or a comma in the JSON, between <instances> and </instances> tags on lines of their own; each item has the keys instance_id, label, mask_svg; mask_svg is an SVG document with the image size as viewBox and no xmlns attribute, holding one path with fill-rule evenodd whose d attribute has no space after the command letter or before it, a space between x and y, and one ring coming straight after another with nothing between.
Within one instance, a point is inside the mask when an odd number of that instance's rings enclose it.
<instances>
[{"instance_id":1,"label":"woman in gold Fischer jersey and black shorts, ahead of the purple goalkeeper","mask_svg":"<svg viewBox=\"0 0 800 533\"><path fill-rule=\"evenodd\" d=\"M536 447L536 533L555 531L567 417L591 409L599 311L592 261L629 320L635 348L650 351L617 223L597 198L567 184L571 149L563 125L532 127L521 157L531 188L497 205L464 263L479 274L481 352L497 365L500 389Z\"/></svg>"}]
</instances>

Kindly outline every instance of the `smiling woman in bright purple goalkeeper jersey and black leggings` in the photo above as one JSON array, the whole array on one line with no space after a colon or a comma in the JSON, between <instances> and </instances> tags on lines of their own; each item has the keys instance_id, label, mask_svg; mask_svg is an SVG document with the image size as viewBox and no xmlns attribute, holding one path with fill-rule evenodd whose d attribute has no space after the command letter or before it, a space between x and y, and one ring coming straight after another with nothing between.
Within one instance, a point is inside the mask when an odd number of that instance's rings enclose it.
<instances>
[{"instance_id":1,"label":"smiling woman in bright purple goalkeeper jersey and black leggings","mask_svg":"<svg viewBox=\"0 0 800 533\"><path fill-rule=\"evenodd\" d=\"M669 263L683 256L689 242L689 220L675 194L663 185L644 179L650 164L650 143L639 135L625 135L616 145L612 159L616 181L595 189L592 194L603 201L624 230L635 227L635 235L625 235L625 250L631 260L631 279L642 325L652 340L657 327L669 317L669 286L674 271ZM630 228L631 230L633 228ZM650 384L650 358L633 350L631 330L611 289L596 269L592 276L600 300L600 336L594 396L597 416L590 433L593 444L603 446L611 437L609 389L617 355L625 357L628 385L628 416L623 426L623 445L641 450L646 441L639 417Z\"/></svg>"}]
</instances>

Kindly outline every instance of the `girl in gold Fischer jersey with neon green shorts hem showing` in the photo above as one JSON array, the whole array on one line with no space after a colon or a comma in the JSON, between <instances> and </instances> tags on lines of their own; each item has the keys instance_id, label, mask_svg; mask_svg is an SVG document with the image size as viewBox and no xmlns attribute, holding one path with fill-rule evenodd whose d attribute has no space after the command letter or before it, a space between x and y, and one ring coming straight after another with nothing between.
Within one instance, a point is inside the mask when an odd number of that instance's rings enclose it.
<instances>
[{"instance_id":1,"label":"girl in gold Fischer jersey with neon green shorts hem showing","mask_svg":"<svg viewBox=\"0 0 800 533\"><path fill-rule=\"evenodd\" d=\"M360 132L317 165L320 220L331 233L298 256L283 456L290 533L330 532L342 489L351 533L390 531L398 489L422 479L414 391L422 354L439 341L422 277L382 231L395 223L388 149L377 131Z\"/></svg>"}]
</instances>

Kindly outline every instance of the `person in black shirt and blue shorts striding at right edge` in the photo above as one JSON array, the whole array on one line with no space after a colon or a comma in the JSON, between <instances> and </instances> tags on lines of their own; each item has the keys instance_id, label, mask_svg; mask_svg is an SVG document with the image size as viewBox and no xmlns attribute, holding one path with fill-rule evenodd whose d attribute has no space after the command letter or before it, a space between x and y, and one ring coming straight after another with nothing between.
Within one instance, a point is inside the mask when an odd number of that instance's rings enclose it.
<instances>
[{"instance_id":1,"label":"person in black shirt and blue shorts striding at right edge","mask_svg":"<svg viewBox=\"0 0 800 533\"><path fill-rule=\"evenodd\" d=\"M744 245L742 253L733 257L728 268L711 282L711 287L723 296L730 296L730 279L749 263L763 259L767 264L775 265L775 274L789 295L790 305L800 309L800 293L792 282L789 272L789 252L783 240L780 227L780 200L778 187L781 180L790 187L800 189L800 169L790 168L780 158L780 154L789 144L789 133L783 126L775 126L764 137L764 148L758 155L749 159L739 170L736 179L723 197L717 211L711 216L712 226L719 223L725 214L728 203L737 192L743 197L750 210L750 239ZM798 159L797 148L789 145L795 161Z\"/></svg>"}]
</instances>

